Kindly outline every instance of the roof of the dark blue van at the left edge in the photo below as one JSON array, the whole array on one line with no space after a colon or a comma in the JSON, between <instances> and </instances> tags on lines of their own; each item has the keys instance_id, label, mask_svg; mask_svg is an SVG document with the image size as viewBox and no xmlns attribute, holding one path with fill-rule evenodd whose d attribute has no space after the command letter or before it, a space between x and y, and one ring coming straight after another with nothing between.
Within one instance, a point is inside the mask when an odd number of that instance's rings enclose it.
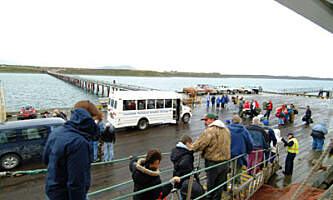
<instances>
[{"instance_id":1,"label":"roof of the dark blue van at the left edge","mask_svg":"<svg viewBox=\"0 0 333 200\"><path fill-rule=\"evenodd\" d=\"M0 123L0 130L12 129L12 128L24 128L30 126L43 126L51 124L64 124L64 123L65 120L59 117L27 119L27 120Z\"/></svg>"}]
</instances>

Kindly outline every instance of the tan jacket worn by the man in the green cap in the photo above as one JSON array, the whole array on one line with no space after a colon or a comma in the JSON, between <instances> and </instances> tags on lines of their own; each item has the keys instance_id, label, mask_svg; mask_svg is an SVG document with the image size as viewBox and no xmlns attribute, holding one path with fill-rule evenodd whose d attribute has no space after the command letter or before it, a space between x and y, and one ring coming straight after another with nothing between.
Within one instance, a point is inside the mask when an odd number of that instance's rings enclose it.
<instances>
[{"instance_id":1,"label":"tan jacket worn by the man in the green cap","mask_svg":"<svg viewBox=\"0 0 333 200\"><path fill-rule=\"evenodd\" d=\"M215 120L192 144L193 151L202 151L205 159L213 162L229 160L231 157L231 135L221 120Z\"/></svg>"}]
</instances>

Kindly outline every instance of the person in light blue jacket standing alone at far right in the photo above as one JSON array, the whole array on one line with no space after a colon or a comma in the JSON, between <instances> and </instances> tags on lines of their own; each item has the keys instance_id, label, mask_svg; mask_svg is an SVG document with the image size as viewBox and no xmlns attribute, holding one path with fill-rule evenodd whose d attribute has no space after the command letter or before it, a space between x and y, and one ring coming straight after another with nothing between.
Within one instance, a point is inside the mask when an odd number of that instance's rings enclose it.
<instances>
[{"instance_id":1,"label":"person in light blue jacket standing alone at far right","mask_svg":"<svg viewBox=\"0 0 333 200\"><path fill-rule=\"evenodd\" d=\"M322 122L320 124L316 124L312 128L312 149L316 150L318 152L323 151L323 145L324 145L324 140L325 140L325 135L327 134L327 129L326 129L326 123Z\"/></svg>"}]
</instances>

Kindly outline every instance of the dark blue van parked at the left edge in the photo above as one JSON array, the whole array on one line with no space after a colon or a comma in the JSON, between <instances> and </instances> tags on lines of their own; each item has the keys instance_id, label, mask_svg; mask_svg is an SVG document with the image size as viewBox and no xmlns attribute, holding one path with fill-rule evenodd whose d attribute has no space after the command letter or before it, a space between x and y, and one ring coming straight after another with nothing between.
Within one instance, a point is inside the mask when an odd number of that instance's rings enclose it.
<instances>
[{"instance_id":1,"label":"dark blue van parked at the left edge","mask_svg":"<svg viewBox=\"0 0 333 200\"><path fill-rule=\"evenodd\" d=\"M11 170L23 161L41 158L48 135L64 123L61 118L0 123L0 168Z\"/></svg>"}]
</instances>

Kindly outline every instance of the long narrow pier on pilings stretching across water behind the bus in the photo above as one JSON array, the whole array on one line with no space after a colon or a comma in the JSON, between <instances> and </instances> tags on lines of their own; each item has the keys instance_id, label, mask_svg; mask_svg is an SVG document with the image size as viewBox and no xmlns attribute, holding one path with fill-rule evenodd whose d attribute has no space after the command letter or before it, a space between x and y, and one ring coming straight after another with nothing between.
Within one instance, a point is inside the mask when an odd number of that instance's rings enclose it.
<instances>
[{"instance_id":1,"label":"long narrow pier on pilings stretching across water behind the bus","mask_svg":"<svg viewBox=\"0 0 333 200\"><path fill-rule=\"evenodd\" d=\"M89 92L101 95L107 97L110 95L110 91L153 91L158 90L154 88L148 88L148 87L141 87L136 85L128 85L128 84L122 84L122 83L116 83L115 81L109 82L109 81L98 81L98 80L92 80L87 78L82 78L79 76L71 76L71 75L65 75L60 74L56 72L47 71L47 74L58 78L60 80L63 80L67 83L70 83L72 85L81 87L82 89L88 90Z\"/></svg>"}]
</instances>

